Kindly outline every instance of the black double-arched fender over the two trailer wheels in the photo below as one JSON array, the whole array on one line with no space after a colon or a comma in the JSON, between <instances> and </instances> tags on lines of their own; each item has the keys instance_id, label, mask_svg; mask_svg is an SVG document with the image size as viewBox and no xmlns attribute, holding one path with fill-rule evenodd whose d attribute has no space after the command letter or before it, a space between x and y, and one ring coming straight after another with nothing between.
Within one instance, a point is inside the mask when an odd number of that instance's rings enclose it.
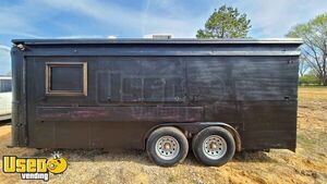
<instances>
[{"instance_id":1,"label":"black double-arched fender over the two trailer wheels","mask_svg":"<svg viewBox=\"0 0 327 184\"><path fill-rule=\"evenodd\" d=\"M235 140L237 151L242 150L241 146L241 136L239 132L237 131L238 127L233 127L230 124L223 123L223 122L193 122L193 123L161 123L158 125L155 125L152 127L143 137L143 149L145 149L146 140L149 134L155 131L158 127L161 126L174 126L181 130L186 138L192 138L195 134L197 134L199 131L209 127L209 126L221 126L225 127L227 131L229 131Z\"/></svg>"}]
</instances>

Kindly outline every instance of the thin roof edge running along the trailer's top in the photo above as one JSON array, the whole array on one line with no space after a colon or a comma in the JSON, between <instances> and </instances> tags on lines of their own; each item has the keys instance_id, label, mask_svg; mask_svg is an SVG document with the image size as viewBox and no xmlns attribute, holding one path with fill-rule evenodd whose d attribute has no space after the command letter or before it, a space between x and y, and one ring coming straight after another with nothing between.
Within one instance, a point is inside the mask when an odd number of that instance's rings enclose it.
<instances>
[{"instance_id":1,"label":"thin roof edge running along the trailer's top","mask_svg":"<svg viewBox=\"0 0 327 184\"><path fill-rule=\"evenodd\" d=\"M19 45L106 45L106 44L303 44L301 38L238 38L238 39L195 39L195 38L119 38L119 39L13 39L13 44Z\"/></svg>"}]
</instances>

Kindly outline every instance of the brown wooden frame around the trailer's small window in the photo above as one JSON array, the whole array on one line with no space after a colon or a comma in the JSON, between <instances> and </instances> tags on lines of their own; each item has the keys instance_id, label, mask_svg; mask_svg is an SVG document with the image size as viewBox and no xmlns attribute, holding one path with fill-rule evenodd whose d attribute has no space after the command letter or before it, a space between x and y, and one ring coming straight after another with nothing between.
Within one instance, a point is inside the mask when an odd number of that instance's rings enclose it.
<instances>
[{"instance_id":1,"label":"brown wooden frame around the trailer's small window","mask_svg":"<svg viewBox=\"0 0 327 184\"><path fill-rule=\"evenodd\" d=\"M82 66L82 90L52 90L51 69L56 66ZM46 96L87 96L87 62L46 62Z\"/></svg>"}]
</instances>

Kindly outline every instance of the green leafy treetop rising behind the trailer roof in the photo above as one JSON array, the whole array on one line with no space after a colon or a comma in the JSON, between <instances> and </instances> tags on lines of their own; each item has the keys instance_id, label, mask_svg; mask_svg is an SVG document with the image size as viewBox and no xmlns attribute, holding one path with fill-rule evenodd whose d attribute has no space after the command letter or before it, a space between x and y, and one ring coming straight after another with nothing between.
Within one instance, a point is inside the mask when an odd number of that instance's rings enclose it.
<instances>
[{"instance_id":1,"label":"green leafy treetop rising behind the trailer roof","mask_svg":"<svg viewBox=\"0 0 327 184\"><path fill-rule=\"evenodd\" d=\"M210 15L204 29L198 29L196 38L244 38L251 28L246 14L238 9L222 5Z\"/></svg>"}]
</instances>

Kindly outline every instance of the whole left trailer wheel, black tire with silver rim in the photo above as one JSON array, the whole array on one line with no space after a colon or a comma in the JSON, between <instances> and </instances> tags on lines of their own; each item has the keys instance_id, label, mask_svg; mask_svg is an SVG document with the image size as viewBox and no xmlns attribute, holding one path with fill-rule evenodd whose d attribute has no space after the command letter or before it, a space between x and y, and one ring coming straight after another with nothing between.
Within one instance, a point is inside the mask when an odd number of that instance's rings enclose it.
<instances>
[{"instance_id":1,"label":"whole left trailer wheel, black tire with silver rim","mask_svg":"<svg viewBox=\"0 0 327 184\"><path fill-rule=\"evenodd\" d=\"M184 134L172 126L155 130L146 142L149 158L161 167L171 167L182 162L189 151Z\"/></svg>"}]
</instances>

